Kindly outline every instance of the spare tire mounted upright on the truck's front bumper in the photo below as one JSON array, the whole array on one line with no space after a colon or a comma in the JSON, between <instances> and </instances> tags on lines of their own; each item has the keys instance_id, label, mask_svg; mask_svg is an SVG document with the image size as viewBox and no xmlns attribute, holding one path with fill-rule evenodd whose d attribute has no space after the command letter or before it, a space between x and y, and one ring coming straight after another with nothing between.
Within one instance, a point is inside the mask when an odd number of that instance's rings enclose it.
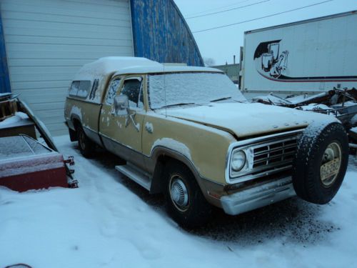
<instances>
[{"instance_id":1,"label":"spare tire mounted upright on the truck's front bumper","mask_svg":"<svg viewBox=\"0 0 357 268\"><path fill-rule=\"evenodd\" d=\"M337 121L313 122L298 139L293 188L298 197L326 204L341 187L348 165L348 137Z\"/></svg>"}]
</instances>

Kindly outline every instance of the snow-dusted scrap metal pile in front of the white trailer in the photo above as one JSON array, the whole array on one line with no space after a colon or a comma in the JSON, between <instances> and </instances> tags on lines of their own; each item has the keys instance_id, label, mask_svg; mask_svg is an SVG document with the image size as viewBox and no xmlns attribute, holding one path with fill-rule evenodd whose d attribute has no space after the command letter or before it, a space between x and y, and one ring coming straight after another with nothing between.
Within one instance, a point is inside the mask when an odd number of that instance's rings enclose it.
<instances>
[{"instance_id":1,"label":"snow-dusted scrap metal pile in front of the white trailer","mask_svg":"<svg viewBox=\"0 0 357 268\"><path fill-rule=\"evenodd\" d=\"M286 98L268 94L266 96L256 96L251 101L336 116L348 131L351 148L356 148L357 89L355 88L343 90L334 88L313 96L303 94L287 96Z\"/></svg>"}]
</instances>

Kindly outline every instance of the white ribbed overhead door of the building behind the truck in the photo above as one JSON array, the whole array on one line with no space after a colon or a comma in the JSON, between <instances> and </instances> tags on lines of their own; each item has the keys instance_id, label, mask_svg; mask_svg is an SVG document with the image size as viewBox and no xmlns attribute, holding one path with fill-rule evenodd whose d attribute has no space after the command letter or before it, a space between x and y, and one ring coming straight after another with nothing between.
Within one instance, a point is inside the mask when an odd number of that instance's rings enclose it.
<instances>
[{"instance_id":1,"label":"white ribbed overhead door of the building behind the truck","mask_svg":"<svg viewBox=\"0 0 357 268\"><path fill-rule=\"evenodd\" d=\"M64 99L78 69L133 56L129 0L0 0L11 89L51 134L65 134Z\"/></svg>"}]
</instances>

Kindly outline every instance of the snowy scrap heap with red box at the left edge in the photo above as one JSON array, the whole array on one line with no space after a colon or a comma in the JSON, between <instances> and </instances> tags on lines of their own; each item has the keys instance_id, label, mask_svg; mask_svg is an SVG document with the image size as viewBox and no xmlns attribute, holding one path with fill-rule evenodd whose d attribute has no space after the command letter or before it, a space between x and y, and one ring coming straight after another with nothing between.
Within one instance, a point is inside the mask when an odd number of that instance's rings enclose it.
<instances>
[{"instance_id":1,"label":"snowy scrap heap with red box at the left edge","mask_svg":"<svg viewBox=\"0 0 357 268\"><path fill-rule=\"evenodd\" d=\"M23 101L0 94L0 186L24 192L78 187L73 157L64 159L46 126Z\"/></svg>"}]
</instances>

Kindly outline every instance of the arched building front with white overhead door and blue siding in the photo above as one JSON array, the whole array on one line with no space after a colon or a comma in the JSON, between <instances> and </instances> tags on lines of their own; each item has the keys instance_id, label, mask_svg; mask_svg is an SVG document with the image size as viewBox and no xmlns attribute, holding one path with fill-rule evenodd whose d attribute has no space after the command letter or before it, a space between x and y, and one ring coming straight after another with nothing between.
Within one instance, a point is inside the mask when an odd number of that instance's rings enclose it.
<instances>
[{"instance_id":1,"label":"arched building front with white overhead door and blue siding","mask_svg":"<svg viewBox=\"0 0 357 268\"><path fill-rule=\"evenodd\" d=\"M0 9L11 89L54 135L66 133L64 100L83 64L135 55L203 66L172 0L0 0Z\"/></svg>"}]
</instances>

